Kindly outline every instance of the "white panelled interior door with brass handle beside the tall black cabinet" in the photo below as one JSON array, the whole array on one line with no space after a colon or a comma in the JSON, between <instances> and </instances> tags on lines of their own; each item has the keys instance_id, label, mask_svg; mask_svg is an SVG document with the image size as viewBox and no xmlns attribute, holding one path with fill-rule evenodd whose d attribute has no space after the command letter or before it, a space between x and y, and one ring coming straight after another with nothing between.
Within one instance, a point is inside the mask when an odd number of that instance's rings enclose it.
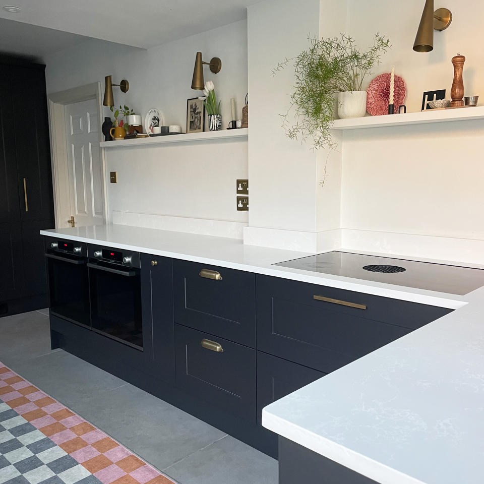
<instances>
[{"instance_id":1,"label":"white panelled interior door with brass handle beside the tall black cabinet","mask_svg":"<svg viewBox=\"0 0 484 484\"><path fill-rule=\"evenodd\" d=\"M66 104L67 169L75 224L104 223L99 114L96 99ZM69 226L68 220L63 226Z\"/></svg>"}]
</instances>

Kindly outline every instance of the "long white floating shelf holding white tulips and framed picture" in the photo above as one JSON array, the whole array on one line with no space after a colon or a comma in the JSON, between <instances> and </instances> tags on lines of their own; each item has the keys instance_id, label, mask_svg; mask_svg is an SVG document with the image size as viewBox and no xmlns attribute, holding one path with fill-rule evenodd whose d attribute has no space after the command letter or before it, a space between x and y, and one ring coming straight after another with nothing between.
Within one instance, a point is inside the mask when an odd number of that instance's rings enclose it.
<instances>
[{"instance_id":1,"label":"long white floating shelf holding white tulips and framed picture","mask_svg":"<svg viewBox=\"0 0 484 484\"><path fill-rule=\"evenodd\" d=\"M101 148L124 148L127 146L151 146L161 143L188 143L192 141L227 140L231 138L247 138L249 128L238 130L205 131L203 133L189 133L181 135L153 136L151 138L135 138L123 141L101 141Z\"/></svg>"}]
</instances>

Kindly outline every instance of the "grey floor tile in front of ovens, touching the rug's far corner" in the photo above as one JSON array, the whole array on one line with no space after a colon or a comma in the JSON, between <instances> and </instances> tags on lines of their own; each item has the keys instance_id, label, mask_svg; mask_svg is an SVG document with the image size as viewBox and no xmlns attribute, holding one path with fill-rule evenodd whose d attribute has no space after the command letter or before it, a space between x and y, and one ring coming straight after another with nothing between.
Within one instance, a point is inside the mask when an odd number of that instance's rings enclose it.
<instances>
[{"instance_id":1,"label":"grey floor tile in front of ovens, touching the rug's far corner","mask_svg":"<svg viewBox=\"0 0 484 484\"><path fill-rule=\"evenodd\" d=\"M74 411L76 405L93 395L126 383L62 350L26 361L15 361L10 367Z\"/></svg>"}]
</instances>

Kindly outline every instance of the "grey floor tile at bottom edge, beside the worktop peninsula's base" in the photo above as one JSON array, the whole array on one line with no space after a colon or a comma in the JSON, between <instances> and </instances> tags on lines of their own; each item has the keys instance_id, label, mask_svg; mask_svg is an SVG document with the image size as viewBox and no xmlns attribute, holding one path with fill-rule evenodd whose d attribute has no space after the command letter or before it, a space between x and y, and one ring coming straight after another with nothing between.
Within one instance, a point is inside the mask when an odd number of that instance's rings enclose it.
<instances>
[{"instance_id":1,"label":"grey floor tile at bottom edge, beside the worktop peninsula's base","mask_svg":"<svg viewBox=\"0 0 484 484\"><path fill-rule=\"evenodd\" d=\"M163 472L183 484L277 484L277 460L226 436Z\"/></svg>"}]
</instances>

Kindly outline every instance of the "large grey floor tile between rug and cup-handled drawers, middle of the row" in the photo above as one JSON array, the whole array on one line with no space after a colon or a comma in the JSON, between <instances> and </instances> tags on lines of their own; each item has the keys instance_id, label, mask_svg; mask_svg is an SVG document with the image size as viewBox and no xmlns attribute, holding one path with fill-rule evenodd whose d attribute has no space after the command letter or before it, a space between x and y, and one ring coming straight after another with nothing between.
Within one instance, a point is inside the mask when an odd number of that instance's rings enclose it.
<instances>
[{"instance_id":1,"label":"large grey floor tile between rug and cup-handled drawers, middle of the row","mask_svg":"<svg viewBox=\"0 0 484 484\"><path fill-rule=\"evenodd\" d=\"M73 410L159 469L226 435L130 384Z\"/></svg>"}]
</instances>

